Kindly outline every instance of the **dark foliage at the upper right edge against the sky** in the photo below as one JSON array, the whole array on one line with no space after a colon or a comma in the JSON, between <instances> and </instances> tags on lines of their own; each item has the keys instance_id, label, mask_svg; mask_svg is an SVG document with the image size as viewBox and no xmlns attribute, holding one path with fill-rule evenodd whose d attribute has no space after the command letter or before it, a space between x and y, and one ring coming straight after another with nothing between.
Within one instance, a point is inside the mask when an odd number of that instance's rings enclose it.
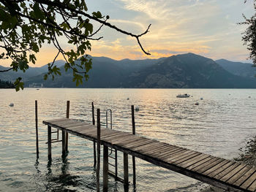
<instances>
[{"instance_id":1,"label":"dark foliage at the upper right edge against the sky","mask_svg":"<svg viewBox=\"0 0 256 192\"><path fill-rule=\"evenodd\" d=\"M242 40L244 45L247 45L249 50L249 58L252 59L254 66L256 66L256 0L254 0L255 15L252 15L251 18L244 17L244 22L238 23L240 25L248 26L246 31L244 31ZM246 3L246 0L244 1Z\"/></svg>"}]
</instances>

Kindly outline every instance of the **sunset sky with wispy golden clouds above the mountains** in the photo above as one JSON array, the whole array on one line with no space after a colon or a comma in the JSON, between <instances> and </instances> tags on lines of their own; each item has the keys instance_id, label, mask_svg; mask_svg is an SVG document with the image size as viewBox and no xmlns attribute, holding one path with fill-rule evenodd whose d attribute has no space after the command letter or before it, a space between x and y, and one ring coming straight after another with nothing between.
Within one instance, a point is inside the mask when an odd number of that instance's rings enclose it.
<instances>
[{"instance_id":1,"label":"sunset sky with wispy golden clouds above the mountains","mask_svg":"<svg viewBox=\"0 0 256 192\"><path fill-rule=\"evenodd\" d=\"M151 28L140 42L151 55L145 55L135 38L103 27L87 54L116 60L124 58L161 58L182 53L195 53L214 60L246 61L249 56L241 42L246 26L242 14L254 14L253 0L87 0L89 12L109 15L109 22L133 34ZM97 29L97 24L94 25ZM68 50L69 45L61 41ZM37 54L36 66L53 61L57 50L45 45ZM61 59L59 57L58 59Z\"/></svg>"}]
</instances>

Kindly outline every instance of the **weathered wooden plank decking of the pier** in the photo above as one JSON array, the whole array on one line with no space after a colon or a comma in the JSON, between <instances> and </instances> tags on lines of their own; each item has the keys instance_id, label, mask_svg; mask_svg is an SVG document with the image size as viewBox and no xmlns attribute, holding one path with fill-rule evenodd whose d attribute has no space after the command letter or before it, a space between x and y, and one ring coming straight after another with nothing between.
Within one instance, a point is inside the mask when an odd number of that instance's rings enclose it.
<instances>
[{"instance_id":1,"label":"weathered wooden plank decking of the pier","mask_svg":"<svg viewBox=\"0 0 256 192\"><path fill-rule=\"evenodd\" d=\"M53 127L97 142L97 126L68 118L44 120L42 123L48 125L48 131ZM254 166L109 128L101 128L100 144L219 188L256 191Z\"/></svg>"}]
</instances>

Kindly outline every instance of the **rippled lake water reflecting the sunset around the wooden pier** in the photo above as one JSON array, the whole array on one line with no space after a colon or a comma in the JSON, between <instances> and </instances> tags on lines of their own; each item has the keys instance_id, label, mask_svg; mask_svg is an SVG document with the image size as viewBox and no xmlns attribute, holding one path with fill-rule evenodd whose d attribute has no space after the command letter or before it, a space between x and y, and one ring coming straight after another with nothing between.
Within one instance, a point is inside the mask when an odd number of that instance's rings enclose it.
<instances>
[{"instance_id":1,"label":"rippled lake water reflecting the sunset around the wooden pier","mask_svg":"<svg viewBox=\"0 0 256 192\"><path fill-rule=\"evenodd\" d=\"M192 97L178 99L178 93L189 93ZM35 153L36 99L39 159ZM102 112L102 126L105 111L110 108L113 129L127 132L132 132L130 106L134 104L140 108L135 112L137 134L227 159L237 157L238 149L256 135L256 90L27 88L16 93L0 89L0 191L95 191L92 142L69 135L67 158L61 158L61 143L53 143L53 161L48 162L47 127L42 120L65 117L67 100L70 118L91 123L94 101L95 108ZM14 107L9 107L10 103ZM121 153L118 161L122 162ZM136 168L137 191L200 191L206 186L138 158ZM121 163L119 176L122 172ZM124 188L110 177L109 191ZM132 185L129 191L134 191Z\"/></svg>"}]
</instances>

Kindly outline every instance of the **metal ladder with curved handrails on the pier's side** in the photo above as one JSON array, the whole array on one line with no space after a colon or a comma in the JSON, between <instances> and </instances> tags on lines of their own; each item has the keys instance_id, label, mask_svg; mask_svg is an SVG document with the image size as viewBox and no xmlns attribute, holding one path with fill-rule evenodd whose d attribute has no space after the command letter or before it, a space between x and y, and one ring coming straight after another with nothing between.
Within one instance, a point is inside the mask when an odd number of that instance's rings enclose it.
<instances>
[{"instance_id":1,"label":"metal ladder with curved handrails on the pier's side","mask_svg":"<svg viewBox=\"0 0 256 192\"><path fill-rule=\"evenodd\" d=\"M110 112L110 129L112 129L112 110L108 109L106 111L106 128L108 127L108 112ZM110 162L108 162L108 164L110 166L113 166L115 168L115 173L111 172L110 170L108 170L108 174L110 174L111 176L115 177L116 180L122 180L121 178L119 178L117 176L117 150L114 150L112 147L110 148L110 153L108 153L108 157L112 158L113 161L115 161L115 164L111 164ZM113 154L114 153L114 154Z\"/></svg>"}]
</instances>

